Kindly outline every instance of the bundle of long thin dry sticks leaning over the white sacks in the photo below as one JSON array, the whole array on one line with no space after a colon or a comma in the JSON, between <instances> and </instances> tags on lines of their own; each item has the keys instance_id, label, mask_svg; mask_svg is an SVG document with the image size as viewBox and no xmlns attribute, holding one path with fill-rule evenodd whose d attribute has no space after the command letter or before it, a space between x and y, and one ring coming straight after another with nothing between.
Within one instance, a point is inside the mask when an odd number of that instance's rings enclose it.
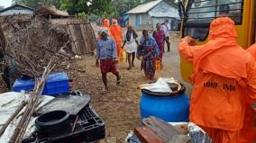
<instances>
[{"instance_id":1,"label":"bundle of long thin dry sticks leaning over the white sacks","mask_svg":"<svg viewBox=\"0 0 256 143\"><path fill-rule=\"evenodd\" d=\"M14 134L10 140L9 143L20 143L22 142L24 133L27 129L27 126L31 120L32 114L37 108L37 106L41 103L41 93L43 90L43 87L45 85L45 81L47 79L47 76L50 75L50 72L53 70L53 68L56 65L52 60L50 60L48 66L44 69L44 72L41 76L41 78L36 78L36 85L33 89L32 95L30 96L30 99L27 103L27 106L25 108L25 111L23 112L23 115L21 117L21 120L18 123L18 126L16 127Z\"/></svg>"}]
</instances>

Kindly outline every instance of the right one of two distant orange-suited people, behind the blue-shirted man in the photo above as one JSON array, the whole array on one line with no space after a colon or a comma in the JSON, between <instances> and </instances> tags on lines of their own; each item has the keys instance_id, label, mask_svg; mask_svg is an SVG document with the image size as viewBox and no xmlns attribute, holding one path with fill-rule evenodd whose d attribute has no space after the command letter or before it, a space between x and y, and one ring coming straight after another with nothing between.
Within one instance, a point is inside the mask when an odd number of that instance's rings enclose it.
<instances>
[{"instance_id":1,"label":"right one of two distant orange-suited people, behind the blue-shirted man","mask_svg":"<svg viewBox=\"0 0 256 143\"><path fill-rule=\"evenodd\" d=\"M118 25L115 19L112 20L110 31L116 43L117 56L119 60L122 61L123 60L123 49L122 49L123 30L122 30L122 27Z\"/></svg>"}]
</instances>

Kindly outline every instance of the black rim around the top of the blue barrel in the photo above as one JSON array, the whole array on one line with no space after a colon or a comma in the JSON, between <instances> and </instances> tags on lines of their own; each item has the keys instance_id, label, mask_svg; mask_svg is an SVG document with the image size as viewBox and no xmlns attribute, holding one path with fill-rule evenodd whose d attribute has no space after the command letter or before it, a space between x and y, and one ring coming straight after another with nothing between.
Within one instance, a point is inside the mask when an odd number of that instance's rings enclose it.
<instances>
[{"instance_id":1,"label":"black rim around the top of the blue barrel","mask_svg":"<svg viewBox=\"0 0 256 143\"><path fill-rule=\"evenodd\" d=\"M147 89L142 89L142 94L147 94L151 96L175 96L178 94L184 94L186 92L186 87L179 83L181 85L181 88L178 91L174 91L172 93L157 93L157 92L151 92Z\"/></svg>"}]
</instances>

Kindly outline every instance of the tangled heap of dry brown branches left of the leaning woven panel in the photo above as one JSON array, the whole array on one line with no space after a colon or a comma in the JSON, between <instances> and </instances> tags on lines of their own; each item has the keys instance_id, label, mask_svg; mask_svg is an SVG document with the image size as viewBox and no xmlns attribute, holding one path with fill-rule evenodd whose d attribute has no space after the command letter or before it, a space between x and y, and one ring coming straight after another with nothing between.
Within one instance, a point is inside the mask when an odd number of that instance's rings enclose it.
<instances>
[{"instance_id":1,"label":"tangled heap of dry brown branches left of the leaning woven panel","mask_svg":"<svg viewBox=\"0 0 256 143\"><path fill-rule=\"evenodd\" d=\"M40 17L32 19L24 29L14 31L6 40L5 54L15 58L15 68L25 76L41 74L51 58L57 58L54 61L59 65L75 55L69 34Z\"/></svg>"}]
</instances>

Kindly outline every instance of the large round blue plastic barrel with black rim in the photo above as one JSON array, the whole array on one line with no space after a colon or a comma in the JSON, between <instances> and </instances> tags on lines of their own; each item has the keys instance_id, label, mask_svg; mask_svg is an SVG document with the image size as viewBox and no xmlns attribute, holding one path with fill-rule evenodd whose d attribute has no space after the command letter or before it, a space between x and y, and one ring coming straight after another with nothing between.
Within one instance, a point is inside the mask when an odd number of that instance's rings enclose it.
<instances>
[{"instance_id":1,"label":"large round blue plastic barrel with black rim","mask_svg":"<svg viewBox=\"0 0 256 143\"><path fill-rule=\"evenodd\" d=\"M189 101L185 87L173 94L152 93L142 90L141 116L155 116L167 122L185 122L189 116Z\"/></svg>"}]
</instances>

